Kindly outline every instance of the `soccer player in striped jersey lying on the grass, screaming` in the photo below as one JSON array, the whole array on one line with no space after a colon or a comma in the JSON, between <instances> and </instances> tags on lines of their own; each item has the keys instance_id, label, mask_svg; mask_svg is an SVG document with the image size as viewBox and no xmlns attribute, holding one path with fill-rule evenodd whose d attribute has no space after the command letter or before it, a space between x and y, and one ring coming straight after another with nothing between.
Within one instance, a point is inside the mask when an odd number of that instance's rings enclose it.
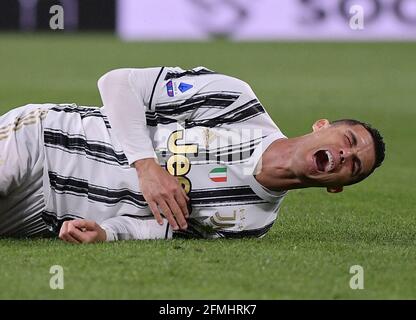
<instances>
[{"instance_id":1,"label":"soccer player in striped jersey lying on the grass, screaming","mask_svg":"<svg viewBox=\"0 0 416 320\"><path fill-rule=\"evenodd\" d=\"M100 109L0 118L0 235L261 237L288 190L339 192L384 159L379 132L355 120L287 139L245 82L202 67L119 69L98 87Z\"/></svg>"}]
</instances>

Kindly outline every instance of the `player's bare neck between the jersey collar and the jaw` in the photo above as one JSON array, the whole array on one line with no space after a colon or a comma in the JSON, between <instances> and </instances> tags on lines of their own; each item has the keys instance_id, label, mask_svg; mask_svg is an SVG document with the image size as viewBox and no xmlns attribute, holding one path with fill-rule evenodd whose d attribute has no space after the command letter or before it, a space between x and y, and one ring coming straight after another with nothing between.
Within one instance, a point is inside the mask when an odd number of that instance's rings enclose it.
<instances>
[{"instance_id":1,"label":"player's bare neck between the jersey collar and the jaw","mask_svg":"<svg viewBox=\"0 0 416 320\"><path fill-rule=\"evenodd\" d=\"M292 155L299 143L298 138L280 139L273 142L263 153L256 180L273 191L303 188L302 181L291 170Z\"/></svg>"}]
</instances>

